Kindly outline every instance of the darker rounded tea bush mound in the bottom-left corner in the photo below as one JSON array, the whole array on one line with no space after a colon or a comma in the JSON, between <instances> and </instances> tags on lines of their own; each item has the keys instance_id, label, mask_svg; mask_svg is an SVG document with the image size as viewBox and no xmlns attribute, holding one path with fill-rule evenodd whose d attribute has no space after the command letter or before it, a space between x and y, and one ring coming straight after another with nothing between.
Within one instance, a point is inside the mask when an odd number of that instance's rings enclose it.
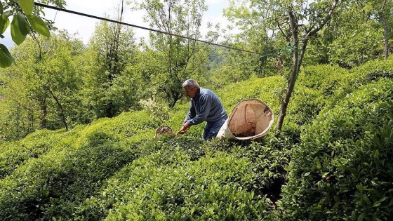
<instances>
[{"instance_id":1,"label":"darker rounded tea bush mound in the bottom-left corner","mask_svg":"<svg viewBox=\"0 0 393 221\"><path fill-rule=\"evenodd\" d=\"M102 185L102 180L133 160L103 133L89 145L58 147L39 159L31 159L0 182L0 217L49 219L58 213L67 217L75 204ZM61 150L60 150L61 149Z\"/></svg>"}]
</instances>

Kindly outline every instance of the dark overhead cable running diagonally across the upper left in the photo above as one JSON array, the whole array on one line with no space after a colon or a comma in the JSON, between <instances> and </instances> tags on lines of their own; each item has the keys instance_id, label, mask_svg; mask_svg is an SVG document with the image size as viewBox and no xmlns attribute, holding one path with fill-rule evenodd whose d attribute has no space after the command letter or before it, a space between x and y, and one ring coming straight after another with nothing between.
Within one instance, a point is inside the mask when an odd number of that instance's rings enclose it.
<instances>
[{"instance_id":1,"label":"dark overhead cable running diagonally across the upper left","mask_svg":"<svg viewBox=\"0 0 393 221\"><path fill-rule=\"evenodd\" d=\"M180 34L173 34L173 33L169 33L169 32L163 32L163 31L156 30L156 29L151 29L151 28L148 28L148 27L142 27L142 26L139 26L139 25L132 25L132 24L129 24L129 23L126 23L126 22L119 22L119 21L112 20L112 19L109 19L109 18L102 18L102 17L98 17L98 16L95 16L95 15L88 15L88 14L85 14L85 13L79 13L77 11L71 11L71 10L67 10L65 8L58 8L58 7L54 7L54 6L48 6L48 5L45 5L45 4L38 3L38 2L34 2L34 4L36 6L41 6L41 7L44 7L44 8L51 8L53 10L58 10L58 11L64 11L66 13L72 13L72 14L75 14L75 15L81 15L81 16L85 16L85 17L88 17L88 18L95 18L95 19L104 20L104 21L107 21L107 22L114 22L114 23L120 24L120 25L136 27L136 28L145 29L145 30L148 30L148 31L151 31L151 32L158 32L158 33L161 33L161 34L168 34L168 35L171 35L171 36L177 36L177 37L180 37L182 39L189 39L191 41L199 41L199 42L202 42L202 43L211 44L213 46L219 46L219 47L222 47L222 48L229 48L229 49L232 49L232 50L244 51L246 53L253 53L253 54L260 55L260 53L257 53L255 51L248 51L248 50L244 50L244 49L241 49L241 48L234 48L234 47L231 47L231 46L225 46L225 45L222 45L222 44L219 44L219 43L213 43L213 42L209 42L209 41L193 39L193 38L190 38L189 36L182 36Z\"/></svg>"}]
</instances>

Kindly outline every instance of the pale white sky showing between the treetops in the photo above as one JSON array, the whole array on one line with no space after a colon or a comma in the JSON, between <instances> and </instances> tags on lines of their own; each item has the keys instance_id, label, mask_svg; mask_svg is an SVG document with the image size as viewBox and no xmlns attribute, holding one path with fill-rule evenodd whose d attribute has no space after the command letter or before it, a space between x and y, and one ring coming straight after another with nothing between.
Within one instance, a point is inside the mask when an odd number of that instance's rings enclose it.
<instances>
[{"instance_id":1,"label":"pale white sky showing between the treetops","mask_svg":"<svg viewBox=\"0 0 393 221\"><path fill-rule=\"evenodd\" d=\"M105 15L111 16L110 19L114 19L116 14L116 6L119 4L119 0L65 0L67 5L65 8L69 11L76 11L79 13L85 13L88 15L95 15L98 17L105 17ZM225 17L222 16L224 8L229 6L227 0L205 0L208 6L208 11L204 13L201 32L202 35L206 34L207 22L213 22L213 25L220 23L221 27L225 27L229 22ZM95 18L88 18L81 15L75 15L72 13L66 13L62 11L56 11L51 8L45 8L44 17L48 20L55 22L55 27L58 29L66 29L69 34L76 34L78 39L81 39L85 44L91 38L95 25L100 22ZM143 22L142 17L144 13L142 11L131 11L129 6L126 6L126 13L124 15L124 22L132 25L138 25L142 27L149 27L148 24ZM140 39L141 37L147 37L149 31L145 29L133 28L135 37ZM4 33L5 38L0 39L0 43L3 43L8 48L14 46L11 39L10 28ZM206 40L206 39L201 39ZM138 40L137 40L138 41Z\"/></svg>"}]
</instances>

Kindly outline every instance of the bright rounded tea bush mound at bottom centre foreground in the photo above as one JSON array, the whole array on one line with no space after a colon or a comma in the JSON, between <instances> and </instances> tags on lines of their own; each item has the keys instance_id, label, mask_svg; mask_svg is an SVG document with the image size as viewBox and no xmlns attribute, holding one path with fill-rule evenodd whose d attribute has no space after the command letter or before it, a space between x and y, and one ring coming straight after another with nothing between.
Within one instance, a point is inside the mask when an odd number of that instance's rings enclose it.
<instances>
[{"instance_id":1,"label":"bright rounded tea bush mound at bottom centre foreground","mask_svg":"<svg viewBox=\"0 0 393 221\"><path fill-rule=\"evenodd\" d=\"M242 188L255 176L250 166L220 151L190 161L178 147L161 149L124 168L98 199L86 201L85 216L78 217L97 219L102 217L91 215L109 211L107 220L254 220L267 200Z\"/></svg>"}]
</instances>

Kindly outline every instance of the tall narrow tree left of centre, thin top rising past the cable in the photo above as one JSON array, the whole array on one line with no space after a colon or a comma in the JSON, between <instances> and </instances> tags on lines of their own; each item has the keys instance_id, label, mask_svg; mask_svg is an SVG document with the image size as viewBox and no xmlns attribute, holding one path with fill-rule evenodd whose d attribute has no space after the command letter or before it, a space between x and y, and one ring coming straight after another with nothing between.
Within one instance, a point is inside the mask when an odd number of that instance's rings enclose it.
<instances>
[{"instance_id":1,"label":"tall narrow tree left of centre, thin top rising past the cable","mask_svg":"<svg viewBox=\"0 0 393 221\"><path fill-rule=\"evenodd\" d=\"M116 20L124 18L124 1L117 8ZM95 117L112 117L132 107L135 90L128 73L135 57L133 30L120 24L102 21L88 43L85 59L90 60L84 76L84 107L93 109Z\"/></svg>"}]
</instances>

